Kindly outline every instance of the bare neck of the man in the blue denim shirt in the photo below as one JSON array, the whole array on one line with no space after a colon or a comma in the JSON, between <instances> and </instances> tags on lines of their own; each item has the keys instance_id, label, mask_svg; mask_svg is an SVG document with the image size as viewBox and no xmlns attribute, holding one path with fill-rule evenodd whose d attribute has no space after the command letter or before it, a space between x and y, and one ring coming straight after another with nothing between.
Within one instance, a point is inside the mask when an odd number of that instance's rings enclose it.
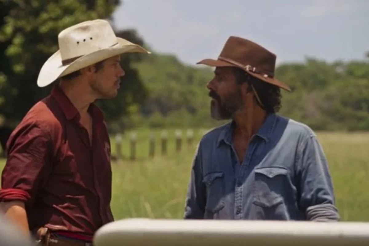
<instances>
[{"instance_id":1,"label":"bare neck of the man in the blue denim shirt","mask_svg":"<svg viewBox=\"0 0 369 246\"><path fill-rule=\"evenodd\" d=\"M266 111L255 106L247 110L239 110L235 113L233 119L235 121L235 134L242 135L246 139L250 139L262 126L266 118Z\"/></svg>"}]
</instances>

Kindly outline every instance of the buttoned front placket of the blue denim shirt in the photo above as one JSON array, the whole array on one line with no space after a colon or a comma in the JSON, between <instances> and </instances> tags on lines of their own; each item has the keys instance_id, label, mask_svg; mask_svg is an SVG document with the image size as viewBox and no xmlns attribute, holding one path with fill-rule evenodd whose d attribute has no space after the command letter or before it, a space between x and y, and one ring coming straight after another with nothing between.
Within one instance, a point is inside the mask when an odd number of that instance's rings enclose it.
<instances>
[{"instance_id":1,"label":"buttoned front placket of the blue denim shirt","mask_svg":"<svg viewBox=\"0 0 369 246\"><path fill-rule=\"evenodd\" d=\"M251 156L255 150L255 147L256 147L256 142L253 141L253 138L252 138L249 143L249 148L246 151L246 156L241 164L241 168L239 170L238 176L236 177L235 193L234 193L234 218L235 219L242 219L242 209L243 209L242 193L243 193L244 183L246 179L245 173L247 171L247 168L249 167ZM232 150L233 150L234 156L237 156L233 145L232 145Z\"/></svg>"}]
</instances>

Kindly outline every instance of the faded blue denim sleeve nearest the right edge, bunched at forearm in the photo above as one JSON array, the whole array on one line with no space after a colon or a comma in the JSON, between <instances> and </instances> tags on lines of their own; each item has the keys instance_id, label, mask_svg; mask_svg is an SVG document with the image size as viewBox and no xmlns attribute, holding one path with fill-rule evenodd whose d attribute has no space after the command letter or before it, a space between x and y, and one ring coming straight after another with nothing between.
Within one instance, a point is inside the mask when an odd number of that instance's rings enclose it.
<instances>
[{"instance_id":1,"label":"faded blue denim sleeve nearest the right edge, bunched at forearm","mask_svg":"<svg viewBox=\"0 0 369 246\"><path fill-rule=\"evenodd\" d=\"M338 221L334 190L327 159L315 135L301 143L296 162L299 206L310 221Z\"/></svg>"}]
</instances>

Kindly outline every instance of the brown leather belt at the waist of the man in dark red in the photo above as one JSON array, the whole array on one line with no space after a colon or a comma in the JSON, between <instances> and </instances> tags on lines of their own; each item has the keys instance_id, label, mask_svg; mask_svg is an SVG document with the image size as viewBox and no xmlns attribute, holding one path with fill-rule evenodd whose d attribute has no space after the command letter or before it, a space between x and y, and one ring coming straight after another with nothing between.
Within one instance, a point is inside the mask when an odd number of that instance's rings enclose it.
<instances>
[{"instance_id":1,"label":"brown leather belt at the waist of the man in dark red","mask_svg":"<svg viewBox=\"0 0 369 246\"><path fill-rule=\"evenodd\" d=\"M36 234L37 245L42 246L93 246L90 242L69 239L52 233L48 228L40 228Z\"/></svg>"}]
</instances>

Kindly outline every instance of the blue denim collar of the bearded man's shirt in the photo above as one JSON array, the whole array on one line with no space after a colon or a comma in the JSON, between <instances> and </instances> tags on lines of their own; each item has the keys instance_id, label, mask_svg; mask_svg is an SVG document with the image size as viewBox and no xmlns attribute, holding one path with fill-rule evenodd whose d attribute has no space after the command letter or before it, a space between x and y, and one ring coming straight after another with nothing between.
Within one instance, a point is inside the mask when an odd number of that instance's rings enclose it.
<instances>
[{"instance_id":1,"label":"blue denim collar of the bearded man's shirt","mask_svg":"<svg viewBox=\"0 0 369 246\"><path fill-rule=\"evenodd\" d=\"M265 121L259 128L258 132L255 134L262 138L265 142L269 142L270 135L272 135L273 129L275 127L277 115L275 113L268 114L265 118ZM232 120L230 123L225 125L223 130L221 131L219 138L218 138L218 146L223 141L228 145L232 145L232 132L235 127L235 122Z\"/></svg>"}]
</instances>

